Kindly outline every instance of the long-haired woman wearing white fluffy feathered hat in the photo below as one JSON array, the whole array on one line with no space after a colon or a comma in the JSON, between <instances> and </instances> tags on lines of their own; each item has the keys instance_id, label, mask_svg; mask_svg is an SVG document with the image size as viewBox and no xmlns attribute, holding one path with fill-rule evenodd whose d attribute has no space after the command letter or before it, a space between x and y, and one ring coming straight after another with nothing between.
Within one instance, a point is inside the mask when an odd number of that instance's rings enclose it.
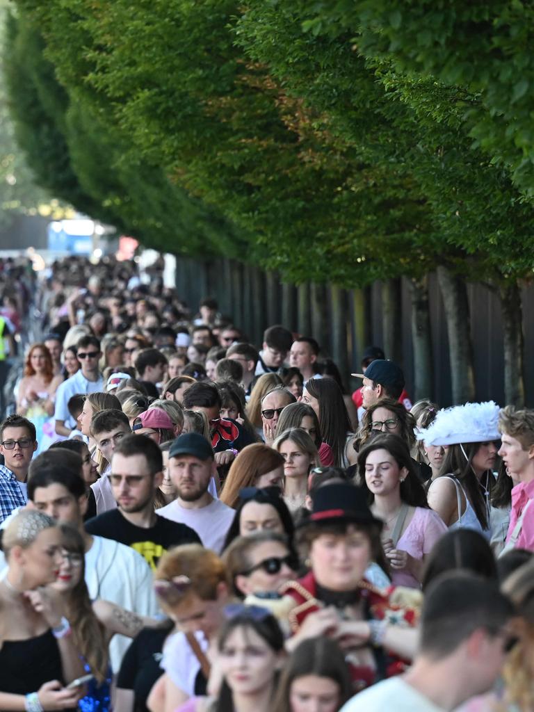
<instances>
[{"instance_id":1,"label":"long-haired woman wearing white fluffy feathered hat","mask_svg":"<svg viewBox=\"0 0 534 712\"><path fill-rule=\"evenodd\" d=\"M428 491L428 501L449 529L473 529L490 537L490 493L495 483L499 407L493 401L466 403L441 410L417 437L441 445L441 474Z\"/></svg>"}]
</instances>

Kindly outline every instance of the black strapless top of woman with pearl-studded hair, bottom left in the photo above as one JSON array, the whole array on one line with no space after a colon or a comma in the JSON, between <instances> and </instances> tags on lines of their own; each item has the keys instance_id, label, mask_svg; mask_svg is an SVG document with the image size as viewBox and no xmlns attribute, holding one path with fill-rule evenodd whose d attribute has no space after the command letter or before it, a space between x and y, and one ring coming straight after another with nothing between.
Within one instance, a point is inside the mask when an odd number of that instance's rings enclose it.
<instances>
[{"instance_id":1,"label":"black strapless top of woman with pearl-studded hair, bottom left","mask_svg":"<svg viewBox=\"0 0 534 712\"><path fill-rule=\"evenodd\" d=\"M52 631L27 640L5 640L0 649L0 690L36 692L44 682L63 682L58 642Z\"/></svg>"}]
</instances>

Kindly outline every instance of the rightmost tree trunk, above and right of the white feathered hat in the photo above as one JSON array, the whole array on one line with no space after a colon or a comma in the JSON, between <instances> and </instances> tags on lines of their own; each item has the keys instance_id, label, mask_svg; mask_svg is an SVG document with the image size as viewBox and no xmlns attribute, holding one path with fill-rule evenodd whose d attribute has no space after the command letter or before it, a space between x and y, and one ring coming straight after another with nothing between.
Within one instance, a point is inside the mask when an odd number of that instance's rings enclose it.
<instances>
[{"instance_id":1,"label":"rightmost tree trunk, above and right of the white feathered hat","mask_svg":"<svg viewBox=\"0 0 534 712\"><path fill-rule=\"evenodd\" d=\"M518 283L511 281L499 288L499 294L503 313L504 397L506 404L521 407L525 404L521 291Z\"/></svg>"}]
</instances>

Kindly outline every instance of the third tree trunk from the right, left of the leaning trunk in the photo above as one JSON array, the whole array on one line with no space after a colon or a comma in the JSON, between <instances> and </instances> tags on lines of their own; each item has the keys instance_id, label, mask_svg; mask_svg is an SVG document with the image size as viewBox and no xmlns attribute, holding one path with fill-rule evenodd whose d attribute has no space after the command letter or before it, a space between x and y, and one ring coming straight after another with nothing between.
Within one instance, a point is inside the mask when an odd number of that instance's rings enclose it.
<instances>
[{"instance_id":1,"label":"third tree trunk from the right, left of the leaning trunk","mask_svg":"<svg viewBox=\"0 0 534 712\"><path fill-rule=\"evenodd\" d=\"M412 345L414 349L414 401L434 397L432 338L429 313L429 281L409 280L412 301Z\"/></svg>"}]
</instances>

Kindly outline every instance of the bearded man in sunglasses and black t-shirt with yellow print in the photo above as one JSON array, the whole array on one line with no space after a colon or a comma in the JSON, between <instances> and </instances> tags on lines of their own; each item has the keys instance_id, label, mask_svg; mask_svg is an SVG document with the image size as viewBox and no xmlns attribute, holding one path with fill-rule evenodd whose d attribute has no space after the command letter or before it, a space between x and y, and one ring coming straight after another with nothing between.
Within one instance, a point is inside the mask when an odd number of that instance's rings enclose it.
<instances>
[{"instance_id":1,"label":"bearded man in sunglasses and black t-shirt with yellow print","mask_svg":"<svg viewBox=\"0 0 534 712\"><path fill-rule=\"evenodd\" d=\"M159 447L145 435L127 435L111 459L109 474L117 509L85 523L85 530L131 546L152 569L160 557L179 544L199 544L199 536L185 524L169 521L154 511L154 498L163 479Z\"/></svg>"}]
</instances>

